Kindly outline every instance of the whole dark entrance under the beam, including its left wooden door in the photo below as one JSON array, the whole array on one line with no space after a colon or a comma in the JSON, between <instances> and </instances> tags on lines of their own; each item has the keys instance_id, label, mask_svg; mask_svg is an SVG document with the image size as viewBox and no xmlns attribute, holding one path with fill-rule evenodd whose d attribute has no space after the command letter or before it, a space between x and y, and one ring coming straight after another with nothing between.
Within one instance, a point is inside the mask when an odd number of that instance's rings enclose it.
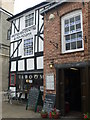
<instances>
[{"instance_id":1,"label":"whole dark entrance under the beam, including its left wooden door","mask_svg":"<svg viewBox=\"0 0 90 120\"><path fill-rule=\"evenodd\" d=\"M80 113L82 70L79 68L65 68L56 70L56 107L63 115L71 112Z\"/></svg>"}]
</instances>

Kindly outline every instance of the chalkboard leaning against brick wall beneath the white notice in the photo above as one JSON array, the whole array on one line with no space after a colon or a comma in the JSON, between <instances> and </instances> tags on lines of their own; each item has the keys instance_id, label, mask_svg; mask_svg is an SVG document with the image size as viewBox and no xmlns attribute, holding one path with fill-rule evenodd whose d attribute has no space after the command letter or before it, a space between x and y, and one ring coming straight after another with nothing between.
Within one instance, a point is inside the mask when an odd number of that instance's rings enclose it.
<instances>
[{"instance_id":1,"label":"chalkboard leaning against brick wall beneath the white notice","mask_svg":"<svg viewBox=\"0 0 90 120\"><path fill-rule=\"evenodd\" d=\"M43 104L43 110L46 110L48 114L52 109L54 108L55 105L55 94L46 94L44 104Z\"/></svg>"}]
</instances>

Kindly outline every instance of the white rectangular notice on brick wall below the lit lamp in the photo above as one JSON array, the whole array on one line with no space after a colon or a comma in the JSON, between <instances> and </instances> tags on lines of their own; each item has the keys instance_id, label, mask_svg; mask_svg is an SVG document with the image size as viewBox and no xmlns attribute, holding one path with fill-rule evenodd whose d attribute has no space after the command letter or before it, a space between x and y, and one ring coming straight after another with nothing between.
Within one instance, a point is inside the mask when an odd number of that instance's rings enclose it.
<instances>
[{"instance_id":1,"label":"white rectangular notice on brick wall below the lit lamp","mask_svg":"<svg viewBox=\"0 0 90 120\"><path fill-rule=\"evenodd\" d=\"M54 74L46 75L46 90L54 90Z\"/></svg>"}]
</instances>

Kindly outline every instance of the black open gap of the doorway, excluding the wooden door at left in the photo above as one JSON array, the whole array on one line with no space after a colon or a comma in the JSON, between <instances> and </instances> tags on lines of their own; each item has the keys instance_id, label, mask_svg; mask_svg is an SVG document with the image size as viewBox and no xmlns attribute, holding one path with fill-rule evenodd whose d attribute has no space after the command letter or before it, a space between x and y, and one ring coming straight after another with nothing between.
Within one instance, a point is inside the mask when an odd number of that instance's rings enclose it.
<instances>
[{"instance_id":1,"label":"black open gap of the doorway, excluding the wooden door at left","mask_svg":"<svg viewBox=\"0 0 90 120\"><path fill-rule=\"evenodd\" d=\"M65 113L81 111L81 79L80 69L64 70Z\"/></svg>"}]
</instances>

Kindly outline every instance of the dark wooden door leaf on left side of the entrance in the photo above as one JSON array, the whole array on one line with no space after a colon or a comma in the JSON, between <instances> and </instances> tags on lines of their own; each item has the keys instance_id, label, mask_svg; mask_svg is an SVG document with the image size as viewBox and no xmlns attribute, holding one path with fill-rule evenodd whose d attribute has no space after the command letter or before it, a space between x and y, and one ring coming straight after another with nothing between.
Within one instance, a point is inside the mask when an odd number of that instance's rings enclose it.
<instances>
[{"instance_id":1,"label":"dark wooden door leaf on left side of the entrance","mask_svg":"<svg viewBox=\"0 0 90 120\"><path fill-rule=\"evenodd\" d=\"M59 108L64 115L65 100L64 100L64 70L56 70L56 107Z\"/></svg>"}]
</instances>

